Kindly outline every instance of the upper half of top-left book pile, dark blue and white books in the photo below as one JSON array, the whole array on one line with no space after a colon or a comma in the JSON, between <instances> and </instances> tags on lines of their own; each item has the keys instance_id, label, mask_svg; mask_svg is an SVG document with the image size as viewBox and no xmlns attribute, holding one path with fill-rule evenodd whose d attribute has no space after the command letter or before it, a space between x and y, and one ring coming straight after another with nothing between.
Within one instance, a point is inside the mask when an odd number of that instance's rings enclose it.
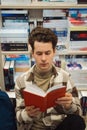
<instances>
[{"instance_id":1,"label":"upper half of top-left book pile, dark blue and white books","mask_svg":"<svg viewBox=\"0 0 87 130\"><path fill-rule=\"evenodd\" d=\"M28 10L2 10L2 26L5 28L25 28L29 29Z\"/></svg>"}]
</instances>

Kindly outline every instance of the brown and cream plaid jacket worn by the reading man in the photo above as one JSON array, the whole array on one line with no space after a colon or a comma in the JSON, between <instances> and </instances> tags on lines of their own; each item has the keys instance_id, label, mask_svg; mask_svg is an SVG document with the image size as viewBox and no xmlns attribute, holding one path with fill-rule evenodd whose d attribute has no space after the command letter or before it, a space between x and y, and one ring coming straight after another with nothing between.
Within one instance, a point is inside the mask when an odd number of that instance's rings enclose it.
<instances>
[{"instance_id":1,"label":"brown and cream plaid jacket worn by the reading man","mask_svg":"<svg viewBox=\"0 0 87 130\"><path fill-rule=\"evenodd\" d=\"M69 110L65 110L62 106L57 105L51 107L45 112L41 112L36 118L31 118L25 111L25 103L22 95L22 90L33 83L37 83L35 78L35 65L29 71L20 75L16 80L16 117L19 124L19 130L54 130L59 125L67 114L82 114L78 92L72 82L69 73L62 68L52 67L50 75L49 87L54 85L66 85L67 92L72 93L73 102ZM36 78L38 79L38 78ZM43 89L43 88L42 88Z\"/></svg>"}]
</instances>

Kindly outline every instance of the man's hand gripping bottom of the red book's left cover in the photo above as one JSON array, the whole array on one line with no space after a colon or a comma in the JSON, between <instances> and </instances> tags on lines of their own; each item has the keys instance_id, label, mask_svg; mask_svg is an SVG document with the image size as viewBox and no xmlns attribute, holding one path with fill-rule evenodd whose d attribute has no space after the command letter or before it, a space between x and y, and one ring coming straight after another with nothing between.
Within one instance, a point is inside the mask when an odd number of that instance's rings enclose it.
<instances>
[{"instance_id":1,"label":"man's hand gripping bottom of the red book's left cover","mask_svg":"<svg viewBox=\"0 0 87 130\"><path fill-rule=\"evenodd\" d=\"M30 117L36 117L40 113L40 109L35 106L27 106L25 110Z\"/></svg>"}]
</instances>

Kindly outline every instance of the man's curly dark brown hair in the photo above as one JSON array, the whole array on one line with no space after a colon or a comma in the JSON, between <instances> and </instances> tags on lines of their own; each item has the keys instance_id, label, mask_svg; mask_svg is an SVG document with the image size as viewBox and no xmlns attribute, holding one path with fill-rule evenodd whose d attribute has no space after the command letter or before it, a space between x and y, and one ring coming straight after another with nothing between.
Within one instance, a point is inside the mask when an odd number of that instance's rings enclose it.
<instances>
[{"instance_id":1,"label":"man's curly dark brown hair","mask_svg":"<svg viewBox=\"0 0 87 130\"><path fill-rule=\"evenodd\" d=\"M29 44L34 51L34 42L52 42L52 47L55 49L58 38L54 32L49 28L36 27L34 28L29 35Z\"/></svg>"}]
</instances>

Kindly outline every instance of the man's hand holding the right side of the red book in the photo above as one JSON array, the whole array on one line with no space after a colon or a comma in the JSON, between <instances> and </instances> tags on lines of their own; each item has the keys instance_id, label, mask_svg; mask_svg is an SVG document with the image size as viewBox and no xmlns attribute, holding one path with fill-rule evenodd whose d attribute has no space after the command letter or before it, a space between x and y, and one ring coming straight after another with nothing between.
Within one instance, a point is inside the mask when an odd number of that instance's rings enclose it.
<instances>
[{"instance_id":1,"label":"man's hand holding the right side of the red book","mask_svg":"<svg viewBox=\"0 0 87 130\"><path fill-rule=\"evenodd\" d=\"M63 106L66 110L71 107L73 97L71 93L66 93L65 97L58 98L56 103Z\"/></svg>"}]
</instances>

